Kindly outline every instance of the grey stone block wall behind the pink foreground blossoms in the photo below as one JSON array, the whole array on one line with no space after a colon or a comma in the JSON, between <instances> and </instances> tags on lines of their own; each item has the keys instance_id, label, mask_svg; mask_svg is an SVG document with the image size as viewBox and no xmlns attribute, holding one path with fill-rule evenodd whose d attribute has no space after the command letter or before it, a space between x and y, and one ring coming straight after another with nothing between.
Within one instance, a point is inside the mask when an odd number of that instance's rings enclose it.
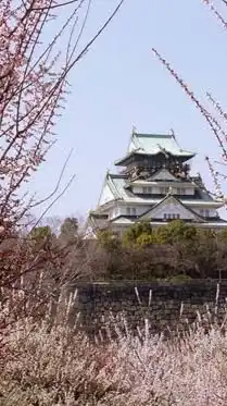
<instances>
[{"instance_id":1,"label":"grey stone block wall behind the pink foreground blossoms","mask_svg":"<svg viewBox=\"0 0 227 406\"><path fill-rule=\"evenodd\" d=\"M74 286L75 287L75 286ZM89 334L113 331L117 320L135 330L149 320L153 333L176 331L202 319L222 320L227 298L227 280L193 280L184 283L111 282L77 283L71 321L79 312L79 323ZM218 295L217 295L218 290ZM218 296L218 297L217 297Z\"/></svg>"}]
</instances>

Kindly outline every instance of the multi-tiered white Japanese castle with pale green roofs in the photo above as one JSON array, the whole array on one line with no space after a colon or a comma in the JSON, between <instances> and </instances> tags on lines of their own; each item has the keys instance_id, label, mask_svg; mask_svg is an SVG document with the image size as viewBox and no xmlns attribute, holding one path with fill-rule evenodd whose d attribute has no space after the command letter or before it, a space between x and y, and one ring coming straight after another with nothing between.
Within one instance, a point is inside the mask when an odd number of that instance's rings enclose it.
<instances>
[{"instance_id":1,"label":"multi-tiered white Japanese castle with pale green roofs","mask_svg":"<svg viewBox=\"0 0 227 406\"><path fill-rule=\"evenodd\" d=\"M126 155L115 162L124 169L108 172L89 226L122 234L135 222L152 226L181 219L202 229L227 225L218 216L222 199L213 198L200 174L192 176L188 161L196 153L181 149L174 133L139 134L133 131Z\"/></svg>"}]
</instances>

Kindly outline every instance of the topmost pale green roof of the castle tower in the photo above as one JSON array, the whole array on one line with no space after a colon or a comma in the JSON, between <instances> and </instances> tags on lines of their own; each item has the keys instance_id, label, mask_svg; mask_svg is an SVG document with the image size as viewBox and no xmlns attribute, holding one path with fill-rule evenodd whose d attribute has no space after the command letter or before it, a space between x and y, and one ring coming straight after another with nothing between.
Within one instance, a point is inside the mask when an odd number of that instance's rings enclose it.
<instances>
[{"instance_id":1,"label":"topmost pale green roof of the castle tower","mask_svg":"<svg viewBox=\"0 0 227 406\"><path fill-rule=\"evenodd\" d=\"M127 155L116 162L121 163L133 153L157 155L162 151L169 152L175 157L192 158L196 152L181 149L174 134L139 134L133 133L127 149Z\"/></svg>"}]
</instances>

